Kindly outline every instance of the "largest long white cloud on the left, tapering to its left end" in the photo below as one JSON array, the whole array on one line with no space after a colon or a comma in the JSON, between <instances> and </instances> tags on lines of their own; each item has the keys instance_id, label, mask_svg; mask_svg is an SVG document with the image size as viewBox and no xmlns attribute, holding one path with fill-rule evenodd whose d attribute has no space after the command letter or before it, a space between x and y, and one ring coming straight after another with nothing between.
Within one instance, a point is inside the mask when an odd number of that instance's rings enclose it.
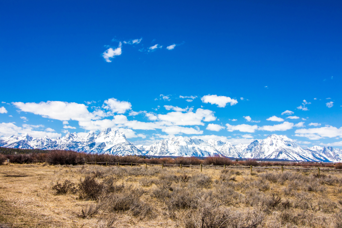
<instances>
[{"instance_id":1,"label":"largest long white cloud on the left, tapering to its left end","mask_svg":"<svg viewBox=\"0 0 342 228\"><path fill-rule=\"evenodd\" d=\"M85 121L91 119L100 119L93 113L90 113L87 106L74 102L48 101L40 103L23 103L12 102L14 106L24 112L31 112L36 115L41 115L44 118L56 120L76 120Z\"/></svg>"}]
</instances>

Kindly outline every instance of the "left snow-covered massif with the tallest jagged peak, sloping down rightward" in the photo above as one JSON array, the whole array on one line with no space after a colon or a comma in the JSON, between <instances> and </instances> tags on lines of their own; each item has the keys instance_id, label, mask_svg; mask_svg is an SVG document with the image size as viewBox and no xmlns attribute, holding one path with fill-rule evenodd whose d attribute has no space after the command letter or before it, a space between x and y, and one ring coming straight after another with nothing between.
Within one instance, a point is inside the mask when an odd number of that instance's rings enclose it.
<instances>
[{"instance_id":1,"label":"left snow-covered massif with the tallest jagged peak, sloping down rightward","mask_svg":"<svg viewBox=\"0 0 342 228\"><path fill-rule=\"evenodd\" d=\"M99 134L89 132L86 137L79 137L76 133L68 133L64 137L51 139L32 138L28 134L17 137L12 135L0 139L0 146L22 149L42 150L74 150L88 153L107 153L111 155L140 155L141 151L128 142L126 136L110 128Z\"/></svg>"}]
</instances>

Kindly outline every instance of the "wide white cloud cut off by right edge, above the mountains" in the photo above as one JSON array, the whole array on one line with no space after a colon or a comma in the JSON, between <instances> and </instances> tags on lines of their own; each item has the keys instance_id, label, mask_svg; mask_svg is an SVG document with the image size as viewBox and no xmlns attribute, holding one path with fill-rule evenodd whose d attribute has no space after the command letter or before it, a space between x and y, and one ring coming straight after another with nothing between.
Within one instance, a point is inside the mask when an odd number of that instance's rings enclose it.
<instances>
[{"instance_id":1,"label":"wide white cloud cut off by right edge, above the mountains","mask_svg":"<svg viewBox=\"0 0 342 228\"><path fill-rule=\"evenodd\" d=\"M321 128L297 129L294 133L296 133L296 136L306 137L309 139L320 139L323 137L335 138L342 137L342 127L336 128L326 125Z\"/></svg>"}]
</instances>

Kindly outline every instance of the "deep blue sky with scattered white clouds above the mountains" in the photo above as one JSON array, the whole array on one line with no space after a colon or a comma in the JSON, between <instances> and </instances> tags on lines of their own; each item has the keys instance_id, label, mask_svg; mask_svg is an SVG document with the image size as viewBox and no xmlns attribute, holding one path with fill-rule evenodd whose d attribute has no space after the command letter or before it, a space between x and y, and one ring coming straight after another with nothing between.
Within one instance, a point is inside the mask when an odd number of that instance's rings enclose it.
<instances>
[{"instance_id":1,"label":"deep blue sky with scattered white clouds above the mountains","mask_svg":"<svg viewBox=\"0 0 342 228\"><path fill-rule=\"evenodd\" d=\"M0 136L111 127L136 145L283 134L342 148L341 6L2 1Z\"/></svg>"}]
</instances>

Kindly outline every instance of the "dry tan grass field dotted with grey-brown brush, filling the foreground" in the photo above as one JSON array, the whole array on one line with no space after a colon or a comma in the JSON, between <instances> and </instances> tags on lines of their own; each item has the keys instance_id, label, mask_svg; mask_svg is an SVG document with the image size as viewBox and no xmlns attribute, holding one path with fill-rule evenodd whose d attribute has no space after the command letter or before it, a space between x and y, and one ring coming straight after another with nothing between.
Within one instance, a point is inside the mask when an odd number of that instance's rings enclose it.
<instances>
[{"instance_id":1,"label":"dry tan grass field dotted with grey-brown brush, filling the foreground","mask_svg":"<svg viewBox=\"0 0 342 228\"><path fill-rule=\"evenodd\" d=\"M341 171L0 166L0 227L340 228L341 208Z\"/></svg>"}]
</instances>

